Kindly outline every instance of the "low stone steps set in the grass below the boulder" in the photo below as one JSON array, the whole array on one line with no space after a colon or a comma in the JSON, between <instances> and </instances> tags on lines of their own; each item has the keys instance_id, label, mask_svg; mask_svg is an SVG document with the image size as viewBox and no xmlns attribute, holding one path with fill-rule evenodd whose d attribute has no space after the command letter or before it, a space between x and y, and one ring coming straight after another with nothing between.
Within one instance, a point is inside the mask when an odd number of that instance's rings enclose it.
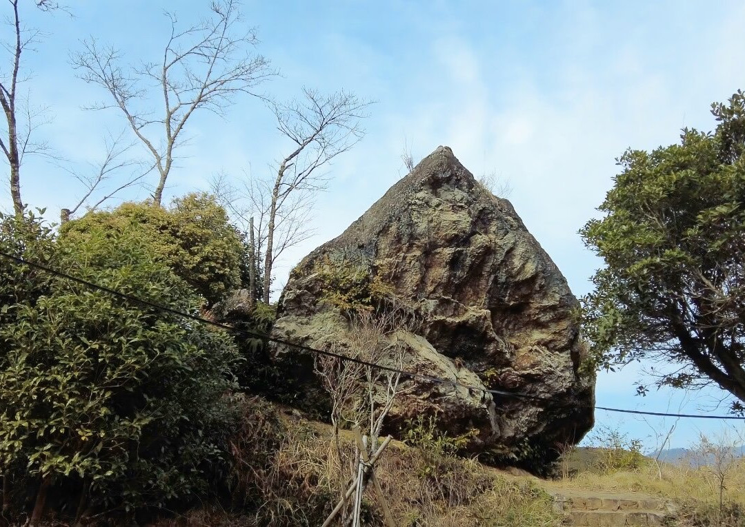
<instances>
[{"instance_id":1,"label":"low stone steps set in the grass below the boulder","mask_svg":"<svg viewBox=\"0 0 745 527\"><path fill-rule=\"evenodd\" d=\"M676 505L644 494L553 490L557 508L571 527L665 526Z\"/></svg>"}]
</instances>

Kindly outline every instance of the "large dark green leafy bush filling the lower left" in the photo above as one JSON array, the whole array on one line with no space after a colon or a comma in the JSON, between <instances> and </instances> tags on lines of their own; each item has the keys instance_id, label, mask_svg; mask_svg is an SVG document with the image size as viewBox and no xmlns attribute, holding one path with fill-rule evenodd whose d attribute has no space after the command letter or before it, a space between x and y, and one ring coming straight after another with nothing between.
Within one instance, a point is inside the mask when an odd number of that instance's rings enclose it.
<instances>
[{"instance_id":1,"label":"large dark green leafy bush filling the lower left","mask_svg":"<svg viewBox=\"0 0 745 527\"><path fill-rule=\"evenodd\" d=\"M0 217L0 248L198 313L202 300L155 258L139 229L54 235ZM46 256L46 258L44 258ZM39 258L41 257L41 258ZM0 266L0 464L86 508L132 512L203 496L235 429L231 336L28 266Z\"/></svg>"}]
</instances>

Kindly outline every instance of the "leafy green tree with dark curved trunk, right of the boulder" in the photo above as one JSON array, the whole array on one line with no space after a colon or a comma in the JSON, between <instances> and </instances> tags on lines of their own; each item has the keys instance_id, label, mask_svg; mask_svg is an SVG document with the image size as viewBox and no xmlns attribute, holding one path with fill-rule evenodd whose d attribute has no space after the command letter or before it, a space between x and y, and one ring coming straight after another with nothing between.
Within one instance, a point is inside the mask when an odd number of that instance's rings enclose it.
<instances>
[{"instance_id":1,"label":"leafy green tree with dark curved trunk, right of the boulder","mask_svg":"<svg viewBox=\"0 0 745 527\"><path fill-rule=\"evenodd\" d=\"M584 327L597 365L671 362L659 385L714 383L745 401L744 93L711 113L714 132L618 159L605 217L580 231L605 261Z\"/></svg>"}]
</instances>

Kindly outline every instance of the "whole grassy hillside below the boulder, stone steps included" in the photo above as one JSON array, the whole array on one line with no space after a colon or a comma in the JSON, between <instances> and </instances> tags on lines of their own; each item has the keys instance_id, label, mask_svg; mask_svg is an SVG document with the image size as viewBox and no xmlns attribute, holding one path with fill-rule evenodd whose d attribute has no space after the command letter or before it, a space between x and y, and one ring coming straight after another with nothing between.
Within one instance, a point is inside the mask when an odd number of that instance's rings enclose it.
<instances>
[{"instance_id":1,"label":"whole grassy hillside below the boulder, stone steps included","mask_svg":"<svg viewBox=\"0 0 745 527\"><path fill-rule=\"evenodd\" d=\"M342 467L352 461L354 435L340 433L335 456L332 427L296 409L260 404L247 415L244 441L236 445L253 467L240 490L262 503L254 512L196 508L158 527L320 525L335 502ZM268 416L273 416L268 418ZM269 426L270 424L270 426ZM253 432L252 432L253 430ZM260 431L260 432L259 432ZM261 434L278 438L273 455L259 454ZM745 464L726 480L719 511L716 476L703 467L657 467L648 458L624 461L611 449L577 449L586 464L577 473L539 479L456 455L454 438L426 424L413 424L404 442L393 441L375 465L384 499L397 526L587 527L605 525L742 527ZM259 445L259 448L256 445ZM247 450L243 450L247 449ZM616 465L592 460L615 459ZM259 460L263 464L256 464ZM256 494L258 493L258 494ZM364 525L386 525L381 502L368 488ZM608 523L611 522L611 523ZM621 522L621 523L618 523Z\"/></svg>"}]
</instances>

